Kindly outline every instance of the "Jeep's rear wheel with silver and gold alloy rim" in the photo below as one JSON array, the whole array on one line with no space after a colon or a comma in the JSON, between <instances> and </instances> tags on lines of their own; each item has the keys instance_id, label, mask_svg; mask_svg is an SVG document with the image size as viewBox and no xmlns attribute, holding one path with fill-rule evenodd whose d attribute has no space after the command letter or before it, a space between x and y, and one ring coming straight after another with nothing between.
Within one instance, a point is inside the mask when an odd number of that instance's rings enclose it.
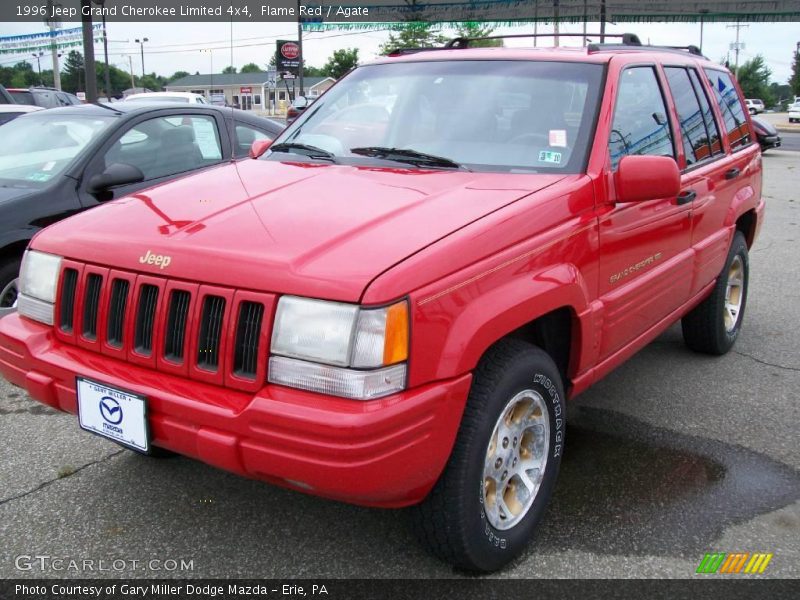
<instances>
[{"instance_id":1,"label":"Jeep's rear wheel with silver and gold alloy rim","mask_svg":"<svg viewBox=\"0 0 800 600\"><path fill-rule=\"evenodd\" d=\"M749 280L747 242L737 231L711 294L681 320L683 340L689 348L717 356L733 348L742 329ZM738 308L733 311L729 306Z\"/></svg>"}]
</instances>

